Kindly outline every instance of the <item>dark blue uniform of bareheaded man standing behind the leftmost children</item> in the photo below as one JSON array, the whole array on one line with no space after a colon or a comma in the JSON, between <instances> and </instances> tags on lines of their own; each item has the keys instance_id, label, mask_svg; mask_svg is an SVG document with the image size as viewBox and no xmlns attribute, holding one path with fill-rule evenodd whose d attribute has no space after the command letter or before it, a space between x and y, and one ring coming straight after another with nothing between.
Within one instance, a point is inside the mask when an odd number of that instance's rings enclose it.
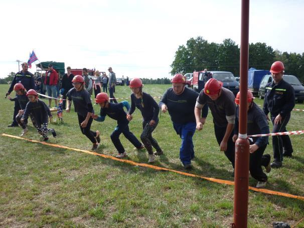
<instances>
[{"instance_id":1,"label":"dark blue uniform of bareheaded man standing behind the leftmost children","mask_svg":"<svg viewBox=\"0 0 304 228\"><path fill-rule=\"evenodd\" d=\"M23 84L23 86L27 89L27 90L30 90L30 89L35 89L35 81L34 81L34 74L32 74L31 72L27 71L27 72L23 72L23 71L19 71L12 83L11 83L11 86L9 88L9 91L8 93L11 93L14 89L14 85L16 83L21 83ZM18 114L18 111L20 110L20 105L19 105L19 102L17 100L15 100L15 106L14 106L14 116L13 116L13 123L12 123L12 126L18 126L18 123L16 121L16 116Z\"/></svg>"}]
</instances>

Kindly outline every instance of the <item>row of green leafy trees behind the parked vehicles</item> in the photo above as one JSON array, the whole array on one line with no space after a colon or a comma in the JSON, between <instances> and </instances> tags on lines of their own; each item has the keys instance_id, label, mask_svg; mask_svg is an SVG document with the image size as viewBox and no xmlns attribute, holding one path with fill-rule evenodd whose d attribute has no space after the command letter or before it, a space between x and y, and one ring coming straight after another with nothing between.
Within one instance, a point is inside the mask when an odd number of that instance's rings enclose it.
<instances>
[{"instance_id":1,"label":"row of green leafy trees behind the parked vehicles","mask_svg":"<svg viewBox=\"0 0 304 228\"><path fill-rule=\"evenodd\" d=\"M287 53L273 50L265 43L249 44L249 68L269 70L274 61L282 61L285 74L295 75L304 81L304 53ZM239 76L240 48L231 39L222 43L209 43L202 37L191 38L186 45L179 46L171 64L171 74L192 73L207 68L208 70L230 71Z\"/></svg>"}]
</instances>

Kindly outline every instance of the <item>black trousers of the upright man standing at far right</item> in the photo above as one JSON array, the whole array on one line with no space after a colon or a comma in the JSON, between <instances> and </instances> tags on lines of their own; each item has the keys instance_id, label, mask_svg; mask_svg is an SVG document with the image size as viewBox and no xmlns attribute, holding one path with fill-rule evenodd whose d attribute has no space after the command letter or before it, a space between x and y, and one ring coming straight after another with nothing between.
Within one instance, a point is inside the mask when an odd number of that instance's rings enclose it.
<instances>
[{"instance_id":1,"label":"black trousers of the upright man standing at far right","mask_svg":"<svg viewBox=\"0 0 304 228\"><path fill-rule=\"evenodd\" d=\"M271 115L271 122L273 124L275 115ZM281 124L274 125L272 133L277 132L286 132L286 125L288 124L290 119L290 113L281 120ZM291 141L288 135L285 136L272 136L272 150L273 150L273 158L275 161L281 162L283 161L283 153L291 155L293 152Z\"/></svg>"}]
</instances>

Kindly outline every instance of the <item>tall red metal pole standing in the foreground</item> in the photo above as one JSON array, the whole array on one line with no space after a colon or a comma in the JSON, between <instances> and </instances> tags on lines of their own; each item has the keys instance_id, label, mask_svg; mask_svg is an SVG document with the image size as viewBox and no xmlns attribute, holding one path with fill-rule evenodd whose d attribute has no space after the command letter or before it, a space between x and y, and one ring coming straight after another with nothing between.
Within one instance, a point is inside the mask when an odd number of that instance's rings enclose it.
<instances>
[{"instance_id":1,"label":"tall red metal pole standing in the foreground","mask_svg":"<svg viewBox=\"0 0 304 228\"><path fill-rule=\"evenodd\" d=\"M249 142L247 140L247 89L249 53L249 0L242 0L240 53L239 137L235 143L234 226L247 227Z\"/></svg>"}]
</instances>

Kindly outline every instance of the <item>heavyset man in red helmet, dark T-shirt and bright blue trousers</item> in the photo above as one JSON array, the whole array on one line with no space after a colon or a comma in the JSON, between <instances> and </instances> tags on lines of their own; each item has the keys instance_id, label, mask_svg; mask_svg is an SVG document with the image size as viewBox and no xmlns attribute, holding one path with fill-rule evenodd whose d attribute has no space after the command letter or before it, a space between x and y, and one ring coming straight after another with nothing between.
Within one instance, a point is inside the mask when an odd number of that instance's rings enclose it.
<instances>
[{"instance_id":1,"label":"heavyset man in red helmet, dark T-shirt and bright blue trousers","mask_svg":"<svg viewBox=\"0 0 304 228\"><path fill-rule=\"evenodd\" d=\"M191 169L191 160L194 159L192 137L196 127L193 110L199 94L185 87L186 78L182 74L174 75L171 82L172 88L164 93L159 106L163 112L169 111L174 130L182 139L180 159L186 169ZM203 117L207 115L208 106L205 106Z\"/></svg>"}]
</instances>

